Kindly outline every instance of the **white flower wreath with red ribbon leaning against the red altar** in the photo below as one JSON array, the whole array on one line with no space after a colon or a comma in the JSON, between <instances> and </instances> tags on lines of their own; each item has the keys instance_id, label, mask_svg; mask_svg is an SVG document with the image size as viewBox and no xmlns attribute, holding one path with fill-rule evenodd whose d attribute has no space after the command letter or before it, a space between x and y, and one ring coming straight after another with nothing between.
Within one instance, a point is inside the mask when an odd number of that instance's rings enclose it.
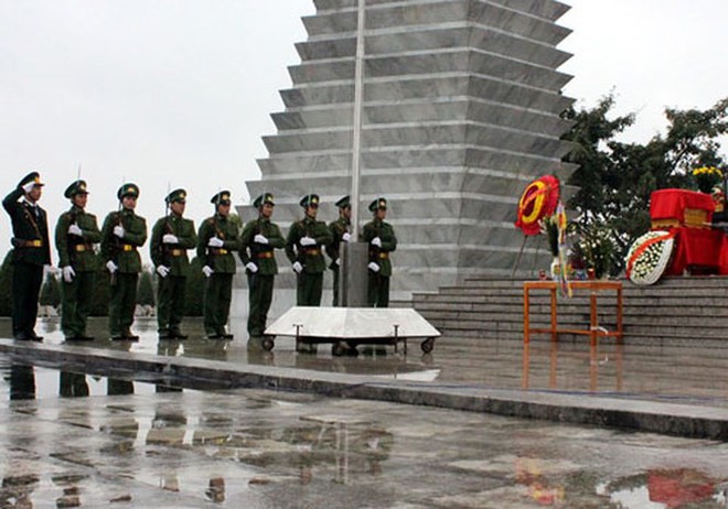
<instances>
[{"instance_id":1,"label":"white flower wreath with red ribbon leaning against the red altar","mask_svg":"<svg viewBox=\"0 0 728 509\"><path fill-rule=\"evenodd\" d=\"M654 284L670 263L674 234L647 231L638 238L627 252L627 277L634 284Z\"/></svg>"}]
</instances>

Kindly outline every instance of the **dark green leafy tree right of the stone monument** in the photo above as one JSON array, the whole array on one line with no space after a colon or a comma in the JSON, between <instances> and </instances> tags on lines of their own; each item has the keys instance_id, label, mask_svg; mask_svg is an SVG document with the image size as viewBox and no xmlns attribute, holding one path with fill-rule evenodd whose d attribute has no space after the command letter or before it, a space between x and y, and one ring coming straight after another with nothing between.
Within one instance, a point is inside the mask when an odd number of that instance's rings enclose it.
<instances>
[{"instance_id":1,"label":"dark green leafy tree right of the stone monument","mask_svg":"<svg viewBox=\"0 0 728 509\"><path fill-rule=\"evenodd\" d=\"M694 187L690 170L696 166L725 170L717 138L728 132L728 99L705 111L667 109L666 134L645 144L615 140L634 115L610 120L613 106L610 95L593 109L570 108L563 115L575 122L564 136L574 142L564 161L579 165L568 181L579 187L568 204L577 212L574 229L580 237L595 228L613 231L612 273L622 269L629 246L650 228L652 192Z\"/></svg>"}]
</instances>

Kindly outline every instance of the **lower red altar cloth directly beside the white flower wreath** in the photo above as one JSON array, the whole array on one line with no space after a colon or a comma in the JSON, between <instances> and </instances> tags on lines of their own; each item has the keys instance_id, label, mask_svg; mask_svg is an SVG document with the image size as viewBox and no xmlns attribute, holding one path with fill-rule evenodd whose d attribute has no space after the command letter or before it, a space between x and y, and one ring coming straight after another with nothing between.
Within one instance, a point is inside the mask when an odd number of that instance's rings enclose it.
<instances>
[{"instance_id":1,"label":"lower red altar cloth directly beside the white flower wreath","mask_svg":"<svg viewBox=\"0 0 728 509\"><path fill-rule=\"evenodd\" d=\"M698 273L728 273L728 256L725 235L720 230L699 228L670 228L675 232L673 262L665 274L683 275L695 270Z\"/></svg>"}]
</instances>

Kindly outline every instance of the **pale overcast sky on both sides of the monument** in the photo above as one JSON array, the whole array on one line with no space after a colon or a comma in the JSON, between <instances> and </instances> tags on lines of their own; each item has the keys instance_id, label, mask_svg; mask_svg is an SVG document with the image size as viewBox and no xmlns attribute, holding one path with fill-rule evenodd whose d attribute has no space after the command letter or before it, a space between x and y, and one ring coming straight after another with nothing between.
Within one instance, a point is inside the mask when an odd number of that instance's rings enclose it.
<instances>
[{"instance_id":1,"label":"pale overcast sky on both sides of the monument","mask_svg":"<svg viewBox=\"0 0 728 509\"><path fill-rule=\"evenodd\" d=\"M664 132L665 107L728 96L725 0L566 3L565 94L591 107L613 89L617 112L638 113L628 139ZM99 227L124 180L141 187L150 227L168 186L188 188L197 225L221 187L248 203L306 40L300 18L314 12L310 0L0 0L0 195L40 170L53 228L81 165Z\"/></svg>"}]
</instances>

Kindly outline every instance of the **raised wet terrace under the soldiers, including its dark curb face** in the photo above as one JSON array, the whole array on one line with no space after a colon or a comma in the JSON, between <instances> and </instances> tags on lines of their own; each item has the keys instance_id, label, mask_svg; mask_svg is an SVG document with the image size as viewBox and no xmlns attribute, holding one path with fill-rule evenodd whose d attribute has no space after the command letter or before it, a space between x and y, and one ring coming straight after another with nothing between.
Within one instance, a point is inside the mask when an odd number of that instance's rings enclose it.
<instances>
[{"instance_id":1,"label":"raised wet terrace under the soldiers, including its dark curb face","mask_svg":"<svg viewBox=\"0 0 728 509\"><path fill-rule=\"evenodd\" d=\"M176 378L186 387L275 387L728 440L728 354L717 345L628 339L590 348L579 340L524 349L515 342L441 338L431 355L410 345L407 356L361 346L357 357L332 357L328 345L296 353L292 338L264 351L244 338L242 323L234 324L233 342L203 339L199 321L186 324L190 339L159 342L154 323L139 321L139 343L111 343L97 322L99 338L83 346L64 344L54 325L46 323L42 345L0 340L0 351L98 375Z\"/></svg>"}]
</instances>

